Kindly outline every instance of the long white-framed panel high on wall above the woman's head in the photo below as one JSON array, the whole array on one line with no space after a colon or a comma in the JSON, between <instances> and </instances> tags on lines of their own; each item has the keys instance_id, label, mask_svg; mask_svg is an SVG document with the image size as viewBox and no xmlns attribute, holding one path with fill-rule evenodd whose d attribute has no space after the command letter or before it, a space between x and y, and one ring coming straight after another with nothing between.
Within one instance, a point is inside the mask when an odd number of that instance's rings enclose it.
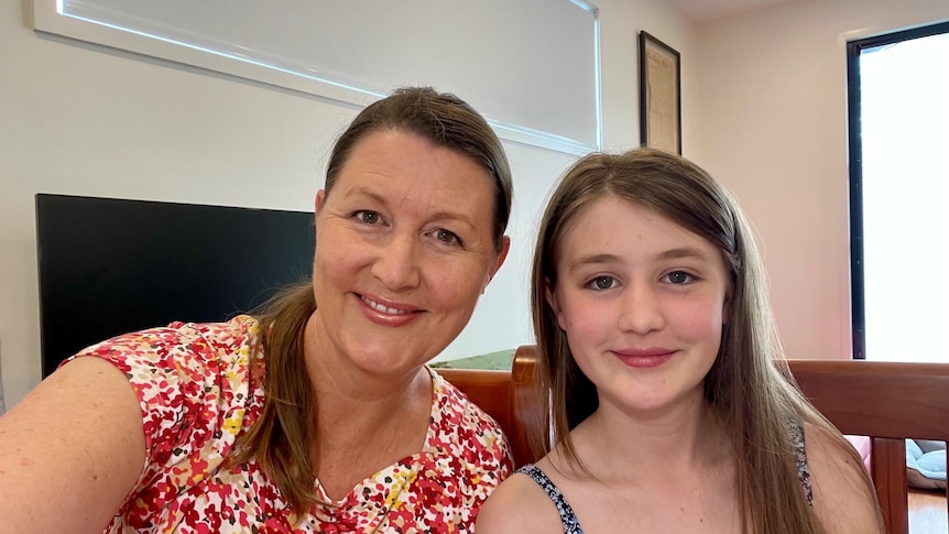
<instances>
[{"instance_id":1,"label":"long white-framed panel high on wall above the woman's head","mask_svg":"<svg viewBox=\"0 0 949 534\"><path fill-rule=\"evenodd\" d=\"M432 85L468 100L504 139L570 154L601 146L598 11L583 0L34 0L33 8L44 32L359 106L396 86Z\"/></svg>"}]
</instances>

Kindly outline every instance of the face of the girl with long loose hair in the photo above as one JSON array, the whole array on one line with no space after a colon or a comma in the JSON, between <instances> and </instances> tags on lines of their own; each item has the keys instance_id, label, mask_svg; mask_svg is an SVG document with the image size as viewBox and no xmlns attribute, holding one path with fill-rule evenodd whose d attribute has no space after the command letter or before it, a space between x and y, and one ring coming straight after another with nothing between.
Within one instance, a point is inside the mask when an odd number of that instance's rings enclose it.
<instances>
[{"instance_id":1,"label":"face of the girl with long loose hair","mask_svg":"<svg viewBox=\"0 0 949 534\"><path fill-rule=\"evenodd\" d=\"M548 299L601 407L654 416L699 402L727 317L720 251L610 196L568 225L555 254Z\"/></svg>"}]
</instances>

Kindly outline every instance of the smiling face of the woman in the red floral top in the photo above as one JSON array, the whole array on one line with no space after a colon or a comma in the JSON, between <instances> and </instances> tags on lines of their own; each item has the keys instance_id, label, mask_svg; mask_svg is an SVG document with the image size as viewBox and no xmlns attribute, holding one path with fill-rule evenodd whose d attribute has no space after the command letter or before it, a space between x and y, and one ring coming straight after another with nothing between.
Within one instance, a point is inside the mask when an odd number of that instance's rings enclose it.
<instances>
[{"instance_id":1,"label":"smiling face of the woman in the red floral top","mask_svg":"<svg viewBox=\"0 0 949 534\"><path fill-rule=\"evenodd\" d=\"M381 374L437 356L504 261L493 221L493 183L473 159L368 133L316 197L318 350Z\"/></svg>"}]
</instances>

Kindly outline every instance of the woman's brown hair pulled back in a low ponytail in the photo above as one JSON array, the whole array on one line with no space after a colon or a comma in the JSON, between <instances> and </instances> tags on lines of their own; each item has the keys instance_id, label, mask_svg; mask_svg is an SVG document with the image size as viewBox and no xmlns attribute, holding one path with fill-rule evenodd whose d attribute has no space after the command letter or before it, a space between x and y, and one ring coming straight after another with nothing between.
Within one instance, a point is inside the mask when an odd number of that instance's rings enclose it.
<instances>
[{"instance_id":1,"label":"woman's brown hair pulled back in a low ponytail","mask_svg":"<svg viewBox=\"0 0 949 534\"><path fill-rule=\"evenodd\" d=\"M428 87L395 90L363 109L336 141L326 170L327 196L353 148L374 131L418 135L481 165L494 185L492 235L495 249L501 250L511 215L511 168L501 141L483 117L451 94ZM258 421L238 438L230 460L257 459L296 514L317 501L312 446L318 411L303 353L305 325L316 306L312 283L304 282L253 314L264 329L264 404Z\"/></svg>"}]
</instances>

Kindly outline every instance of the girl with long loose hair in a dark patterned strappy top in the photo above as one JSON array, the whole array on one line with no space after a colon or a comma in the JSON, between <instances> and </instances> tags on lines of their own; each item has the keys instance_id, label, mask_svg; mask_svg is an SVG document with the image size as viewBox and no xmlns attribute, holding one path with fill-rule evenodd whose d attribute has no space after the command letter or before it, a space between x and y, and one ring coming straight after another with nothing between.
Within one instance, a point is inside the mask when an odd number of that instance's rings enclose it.
<instances>
[{"instance_id":1,"label":"girl with long loose hair in a dark patterned strappy top","mask_svg":"<svg viewBox=\"0 0 949 534\"><path fill-rule=\"evenodd\" d=\"M749 226L695 164L576 163L532 303L555 447L492 494L480 534L882 532L860 458L788 379Z\"/></svg>"}]
</instances>

